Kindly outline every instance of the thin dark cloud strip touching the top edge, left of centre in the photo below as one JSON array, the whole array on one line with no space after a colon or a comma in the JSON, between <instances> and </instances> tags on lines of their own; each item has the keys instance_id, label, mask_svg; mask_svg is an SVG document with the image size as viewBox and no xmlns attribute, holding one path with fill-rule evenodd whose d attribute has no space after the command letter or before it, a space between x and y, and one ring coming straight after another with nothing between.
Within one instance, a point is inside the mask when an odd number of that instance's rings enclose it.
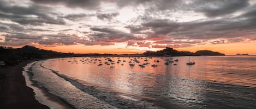
<instances>
[{"instance_id":1,"label":"thin dark cloud strip touching the top edge, left of centre","mask_svg":"<svg viewBox=\"0 0 256 109\"><path fill-rule=\"evenodd\" d=\"M100 0L32 0L34 3L41 4L62 4L69 8L99 9Z\"/></svg>"}]
</instances>

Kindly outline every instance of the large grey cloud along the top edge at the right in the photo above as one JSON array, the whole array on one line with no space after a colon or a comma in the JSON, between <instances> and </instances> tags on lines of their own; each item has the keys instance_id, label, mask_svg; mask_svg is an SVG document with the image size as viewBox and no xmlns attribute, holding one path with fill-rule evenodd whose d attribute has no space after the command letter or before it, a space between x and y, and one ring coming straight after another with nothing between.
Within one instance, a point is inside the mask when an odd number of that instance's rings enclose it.
<instances>
[{"instance_id":1,"label":"large grey cloud along the top edge at the right","mask_svg":"<svg viewBox=\"0 0 256 109\"><path fill-rule=\"evenodd\" d=\"M139 2L139 4L144 4L146 7L145 16L159 17L163 14L170 16L175 12L194 11L209 18L229 16L250 6L249 0L156 0Z\"/></svg>"}]
</instances>

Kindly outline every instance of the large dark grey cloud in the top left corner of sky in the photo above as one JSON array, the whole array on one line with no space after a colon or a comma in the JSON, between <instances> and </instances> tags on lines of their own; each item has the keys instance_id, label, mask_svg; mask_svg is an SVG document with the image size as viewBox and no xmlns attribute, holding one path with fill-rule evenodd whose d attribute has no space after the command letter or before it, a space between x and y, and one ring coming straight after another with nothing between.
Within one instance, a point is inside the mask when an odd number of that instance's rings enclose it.
<instances>
[{"instance_id":1,"label":"large dark grey cloud in the top left corner of sky","mask_svg":"<svg viewBox=\"0 0 256 109\"><path fill-rule=\"evenodd\" d=\"M57 14L51 12L49 7L41 5L29 5L29 7L21 7L17 5L9 5L7 2L0 1L0 18L11 20L20 24L41 25L49 24L66 24L61 18L54 18L49 14ZM34 16L34 17L32 17Z\"/></svg>"}]
</instances>

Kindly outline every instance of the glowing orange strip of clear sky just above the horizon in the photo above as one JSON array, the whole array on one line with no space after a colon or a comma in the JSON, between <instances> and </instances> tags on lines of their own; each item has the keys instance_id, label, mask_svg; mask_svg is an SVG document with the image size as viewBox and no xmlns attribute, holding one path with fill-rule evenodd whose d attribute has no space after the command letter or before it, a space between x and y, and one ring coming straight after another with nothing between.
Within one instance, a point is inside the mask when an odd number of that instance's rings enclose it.
<instances>
[{"instance_id":1,"label":"glowing orange strip of clear sky just above the horizon","mask_svg":"<svg viewBox=\"0 0 256 109\"><path fill-rule=\"evenodd\" d=\"M226 43L226 44L205 44L195 47L187 47L187 48L174 48L176 50L185 50L189 52L196 52L197 50L212 50L215 52L221 52L226 55L233 55L237 53L248 53L248 54L256 54L256 41L250 42L240 42L240 43ZM134 53L143 53L148 48L140 48L140 47L128 47L128 48L120 48L118 46L84 46L81 44L72 45L72 46L56 46L56 47L43 47L37 46L41 49L46 50L54 50L57 52L64 53L111 53L111 54L134 54ZM160 50L164 48L152 49L153 51Z\"/></svg>"}]
</instances>

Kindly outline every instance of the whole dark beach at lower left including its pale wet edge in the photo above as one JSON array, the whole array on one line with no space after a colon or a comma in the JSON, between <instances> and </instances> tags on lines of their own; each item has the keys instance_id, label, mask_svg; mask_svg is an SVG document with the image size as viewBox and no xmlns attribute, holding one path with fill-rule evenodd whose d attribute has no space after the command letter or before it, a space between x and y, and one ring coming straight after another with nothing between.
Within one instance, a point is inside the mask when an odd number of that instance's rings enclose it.
<instances>
[{"instance_id":1,"label":"whole dark beach at lower left including its pale wet edge","mask_svg":"<svg viewBox=\"0 0 256 109\"><path fill-rule=\"evenodd\" d=\"M0 108L72 108L65 101L47 92L46 89L35 85L31 80L25 67L38 60L0 67Z\"/></svg>"}]
</instances>

